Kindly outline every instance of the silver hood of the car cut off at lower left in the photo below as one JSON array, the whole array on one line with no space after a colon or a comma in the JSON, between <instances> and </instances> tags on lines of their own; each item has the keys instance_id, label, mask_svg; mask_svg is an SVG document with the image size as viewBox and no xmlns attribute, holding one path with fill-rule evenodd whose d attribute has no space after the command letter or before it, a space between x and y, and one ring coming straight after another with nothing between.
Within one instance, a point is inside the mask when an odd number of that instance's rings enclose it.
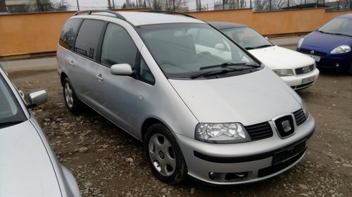
<instances>
[{"instance_id":1,"label":"silver hood of the car cut off at lower left","mask_svg":"<svg viewBox=\"0 0 352 197\"><path fill-rule=\"evenodd\" d=\"M0 174L0 196L61 196L47 150L30 121L0 129Z\"/></svg>"}]
</instances>

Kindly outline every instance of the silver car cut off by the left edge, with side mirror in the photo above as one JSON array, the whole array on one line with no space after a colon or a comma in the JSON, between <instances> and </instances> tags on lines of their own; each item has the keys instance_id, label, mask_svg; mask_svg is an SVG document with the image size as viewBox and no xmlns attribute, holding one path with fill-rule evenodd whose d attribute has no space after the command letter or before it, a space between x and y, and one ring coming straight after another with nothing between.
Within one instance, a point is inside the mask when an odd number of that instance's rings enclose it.
<instances>
[{"instance_id":1,"label":"silver car cut off by the left edge, with side mirror","mask_svg":"<svg viewBox=\"0 0 352 197\"><path fill-rule=\"evenodd\" d=\"M0 65L0 196L80 196L73 174L61 165L29 110L46 91L23 100Z\"/></svg>"}]
</instances>

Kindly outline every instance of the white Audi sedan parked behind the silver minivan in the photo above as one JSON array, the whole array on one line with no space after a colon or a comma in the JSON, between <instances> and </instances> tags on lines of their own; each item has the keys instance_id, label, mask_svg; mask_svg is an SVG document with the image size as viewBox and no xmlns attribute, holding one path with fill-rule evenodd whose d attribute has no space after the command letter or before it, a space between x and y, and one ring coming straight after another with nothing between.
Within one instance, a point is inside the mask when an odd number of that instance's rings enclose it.
<instances>
[{"instance_id":1,"label":"white Audi sedan parked behind the silver minivan","mask_svg":"<svg viewBox=\"0 0 352 197\"><path fill-rule=\"evenodd\" d=\"M292 89L310 87L319 76L315 61L296 51L276 46L258 32L239 23L210 22L273 70Z\"/></svg>"}]
</instances>

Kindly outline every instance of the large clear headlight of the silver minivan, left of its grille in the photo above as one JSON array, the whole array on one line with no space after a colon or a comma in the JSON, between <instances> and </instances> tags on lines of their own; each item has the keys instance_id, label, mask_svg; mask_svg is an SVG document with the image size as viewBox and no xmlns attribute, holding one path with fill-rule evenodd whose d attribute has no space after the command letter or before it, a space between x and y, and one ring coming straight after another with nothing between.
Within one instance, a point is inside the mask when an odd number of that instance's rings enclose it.
<instances>
[{"instance_id":1,"label":"large clear headlight of the silver minivan, left of its grille","mask_svg":"<svg viewBox=\"0 0 352 197\"><path fill-rule=\"evenodd\" d=\"M241 123L199 123L195 139L214 144L230 144L251 141Z\"/></svg>"}]
</instances>

